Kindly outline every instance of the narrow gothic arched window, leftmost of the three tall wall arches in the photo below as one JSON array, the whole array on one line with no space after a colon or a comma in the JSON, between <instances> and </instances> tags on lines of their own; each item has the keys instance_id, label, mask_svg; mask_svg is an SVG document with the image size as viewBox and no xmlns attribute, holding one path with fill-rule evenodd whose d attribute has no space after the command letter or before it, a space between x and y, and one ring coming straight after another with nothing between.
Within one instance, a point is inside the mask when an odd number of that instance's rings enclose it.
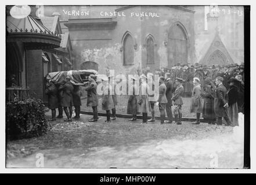
<instances>
[{"instance_id":1,"label":"narrow gothic arched window, leftmost of the three tall wall arches","mask_svg":"<svg viewBox=\"0 0 256 185\"><path fill-rule=\"evenodd\" d=\"M124 65L134 64L134 40L129 33L125 35L122 47Z\"/></svg>"}]
</instances>

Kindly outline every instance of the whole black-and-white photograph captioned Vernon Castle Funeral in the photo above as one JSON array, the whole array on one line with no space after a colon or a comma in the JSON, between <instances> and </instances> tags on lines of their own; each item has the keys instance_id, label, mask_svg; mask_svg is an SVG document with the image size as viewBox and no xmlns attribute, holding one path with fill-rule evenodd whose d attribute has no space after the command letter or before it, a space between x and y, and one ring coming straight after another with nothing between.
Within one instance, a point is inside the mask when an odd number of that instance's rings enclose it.
<instances>
[{"instance_id":1,"label":"whole black-and-white photograph captioned Vernon Castle Funeral","mask_svg":"<svg viewBox=\"0 0 256 185\"><path fill-rule=\"evenodd\" d=\"M250 11L6 4L5 168L250 169Z\"/></svg>"}]
</instances>

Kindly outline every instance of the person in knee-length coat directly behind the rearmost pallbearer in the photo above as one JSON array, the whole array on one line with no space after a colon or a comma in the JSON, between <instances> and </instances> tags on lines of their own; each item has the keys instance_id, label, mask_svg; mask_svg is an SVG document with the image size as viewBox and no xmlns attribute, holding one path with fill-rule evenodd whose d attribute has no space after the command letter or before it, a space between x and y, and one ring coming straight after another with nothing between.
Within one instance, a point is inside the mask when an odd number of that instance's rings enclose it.
<instances>
[{"instance_id":1,"label":"person in knee-length coat directly behind the rearmost pallbearer","mask_svg":"<svg viewBox=\"0 0 256 185\"><path fill-rule=\"evenodd\" d=\"M106 110L107 120L106 123L110 123L110 110L114 108L114 102L112 95L110 95L109 78L103 77L103 97L102 97L102 110Z\"/></svg>"}]
</instances>

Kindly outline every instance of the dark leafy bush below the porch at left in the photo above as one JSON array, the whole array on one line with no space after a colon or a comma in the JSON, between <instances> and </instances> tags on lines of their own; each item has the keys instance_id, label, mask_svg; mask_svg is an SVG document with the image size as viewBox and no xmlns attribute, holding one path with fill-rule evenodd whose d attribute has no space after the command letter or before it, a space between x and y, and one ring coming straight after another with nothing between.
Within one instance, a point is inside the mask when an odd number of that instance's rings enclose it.
<instances>
[{"instance_id":1,"label":"dark leafy bush below the porch at left","mask_svg":"<svg viewBox=\"0 0 256 185\"><path fill-rule=\"evenodd\" d=\"M8 139L41 136L48 130L45 106L41 99L6 103L6 136Z\"/></svg>"}]
</instances>

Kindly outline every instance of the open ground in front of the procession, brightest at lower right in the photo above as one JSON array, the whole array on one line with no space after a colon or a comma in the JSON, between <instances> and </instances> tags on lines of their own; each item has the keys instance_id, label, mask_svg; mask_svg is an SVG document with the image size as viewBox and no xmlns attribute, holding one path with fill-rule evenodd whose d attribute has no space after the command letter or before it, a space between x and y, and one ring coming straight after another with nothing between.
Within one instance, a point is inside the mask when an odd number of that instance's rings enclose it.
<instances>
[{"instance_id":1,"label":"open ground in front of the procession, brightest at lower right","mask_svg":"<svg viewBox=\"0 0 256 185\"><path fill-rule=\"evenodd\" d=\"M44 136L8 142L6 166L35 168L43 154L46 168L243 167L241 127L127 119L104 123L106 117L89 123L90 117L58 120Z\"/></svg>"}]
</instances>

